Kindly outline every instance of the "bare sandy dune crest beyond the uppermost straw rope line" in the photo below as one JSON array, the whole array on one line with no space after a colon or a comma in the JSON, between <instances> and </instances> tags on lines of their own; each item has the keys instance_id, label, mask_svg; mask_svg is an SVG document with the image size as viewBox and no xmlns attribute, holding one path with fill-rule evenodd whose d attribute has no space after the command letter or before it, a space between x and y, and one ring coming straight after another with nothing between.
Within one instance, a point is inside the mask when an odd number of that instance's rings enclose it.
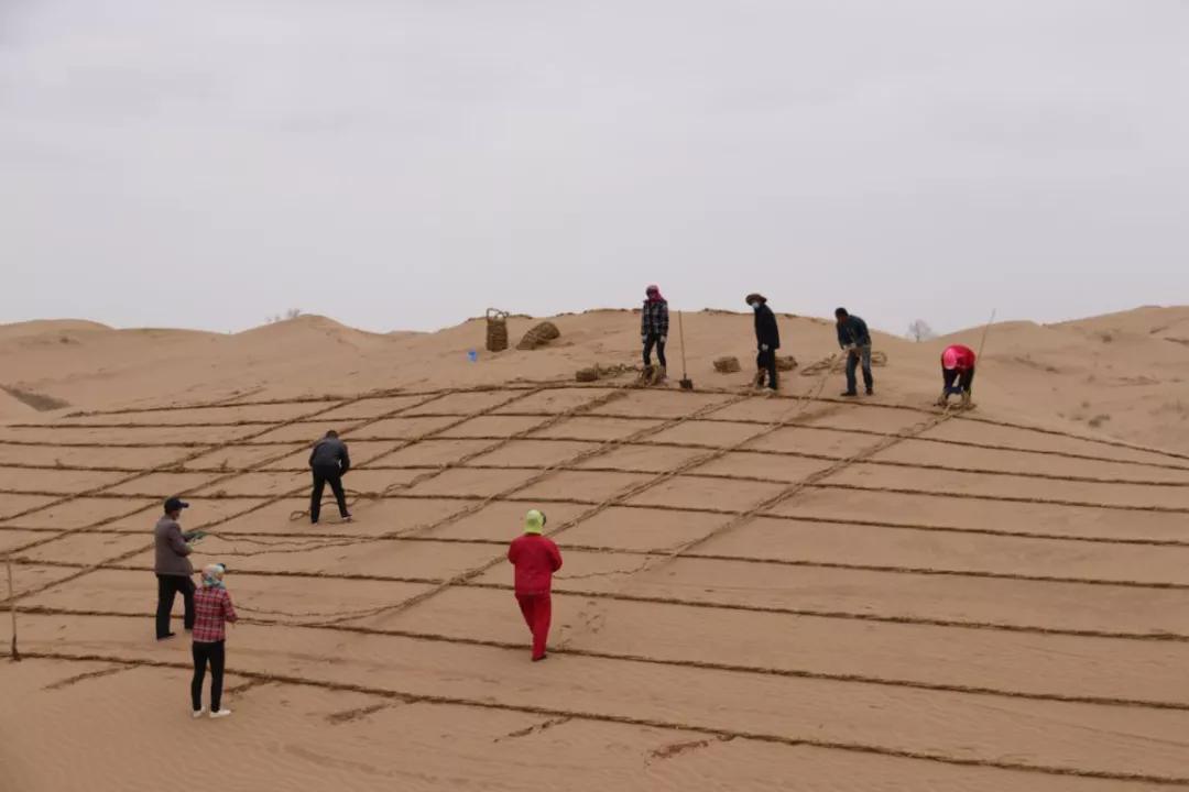
<instances>
[{"instance_id":1,"label":"bare sandy dune crest beyond the uppermost straw rope line","mask_svg":"<svg viewBox=\"0 0 1189 792\"><path fill-rule=\"evenodd\" d=\"M747 375L716 374L711 362L754 356L750 317L696 312L686 321L690 375L729 386ZM0 325L6 385L20 385L74 408L193 404L234 398L359 393L394 387L452 387L572 376L577 368L637 363L637 322L625 311L555 317L562 338L533 353L483 350L484 322L432 335L376 335L317 316L237 335L112 330L83 322ZM510 321L512 344L534 323ZM785 348L804 363L836 351L832 324L782 318ZM680 367L671 341L671 367ZM1059 325L996 324L979 374L987 414L1189 449L1189 308L1144 308ZM924 404L938 389L937 355L949 341L977 348L982 328L921 344L879 335L892 365L879 372L880 397ZM467 351L480 353L478 363ZM833 391L837 384L831 384ZM69 410L67 411L69 412ZM27 417L0 398L0 419ZM1093 423L1093 426L1090 425Z\"/></svg>"}]
</instances>

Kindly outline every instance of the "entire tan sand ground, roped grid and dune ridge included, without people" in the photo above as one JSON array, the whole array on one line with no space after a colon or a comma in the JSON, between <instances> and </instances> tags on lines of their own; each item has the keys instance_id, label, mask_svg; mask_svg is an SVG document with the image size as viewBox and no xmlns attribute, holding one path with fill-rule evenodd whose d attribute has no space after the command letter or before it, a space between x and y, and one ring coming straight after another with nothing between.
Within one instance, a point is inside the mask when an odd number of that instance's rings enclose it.
<instances>
[{"instance_id":1,"label":"entire tan sand ground, roped grid and dune ridge included, without people","mask_svg":"<svg viewBox=\"0 0 1189 792\"><path fill-rule=\"evenodd\" d=\"M948 340L879 336L848 403L749 391L748 316L686 317L694 392L675 338L668 386L578 385L638 319L553 321L496 355L482 322L0 327L0 792L1189 787L1189 309L995 325L970 413L931 406ZM332 427L357 519L310 526ZM172 494L243 616L226 721L152 636ZM543 664L503 558L534 506Z\"/></svg>"}]
</instances>

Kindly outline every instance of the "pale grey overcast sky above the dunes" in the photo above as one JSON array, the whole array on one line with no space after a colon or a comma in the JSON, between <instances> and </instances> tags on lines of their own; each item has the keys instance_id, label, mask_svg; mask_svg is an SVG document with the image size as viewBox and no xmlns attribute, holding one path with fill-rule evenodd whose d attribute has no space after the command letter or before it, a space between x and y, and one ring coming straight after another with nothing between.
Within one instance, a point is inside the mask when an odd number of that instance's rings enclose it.
<instances>
[{"instance_id":1,"label":"pale grey overcast sky above the dunes","mask_svg":"<svg viewBox=\"0 0 1189 792\"><path fill-rule=\"evenodd\" d=\"M1184 0L0 0L0 322L1189 303Z\"/></svg>"}]
</instances>

